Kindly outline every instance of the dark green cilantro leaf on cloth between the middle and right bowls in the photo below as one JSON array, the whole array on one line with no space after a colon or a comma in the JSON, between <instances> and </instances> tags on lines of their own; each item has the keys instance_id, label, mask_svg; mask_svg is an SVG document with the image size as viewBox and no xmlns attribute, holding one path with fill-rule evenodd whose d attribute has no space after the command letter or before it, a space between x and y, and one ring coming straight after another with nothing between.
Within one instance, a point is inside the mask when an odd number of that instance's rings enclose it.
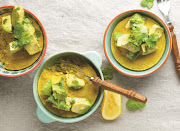
<instances>
[{"instance_id":1,"label":"dark green cilantro leaf on cloth between the middle and right bowls","mask_svg":"<svg viewBox=\"0 0 180 131\"><path fill-rule=\"evenodd\" d=\"M104 80L112 80L113 72L116 71L111 65L108 65L102 70Z\"/></svg>"}]
</instances>

